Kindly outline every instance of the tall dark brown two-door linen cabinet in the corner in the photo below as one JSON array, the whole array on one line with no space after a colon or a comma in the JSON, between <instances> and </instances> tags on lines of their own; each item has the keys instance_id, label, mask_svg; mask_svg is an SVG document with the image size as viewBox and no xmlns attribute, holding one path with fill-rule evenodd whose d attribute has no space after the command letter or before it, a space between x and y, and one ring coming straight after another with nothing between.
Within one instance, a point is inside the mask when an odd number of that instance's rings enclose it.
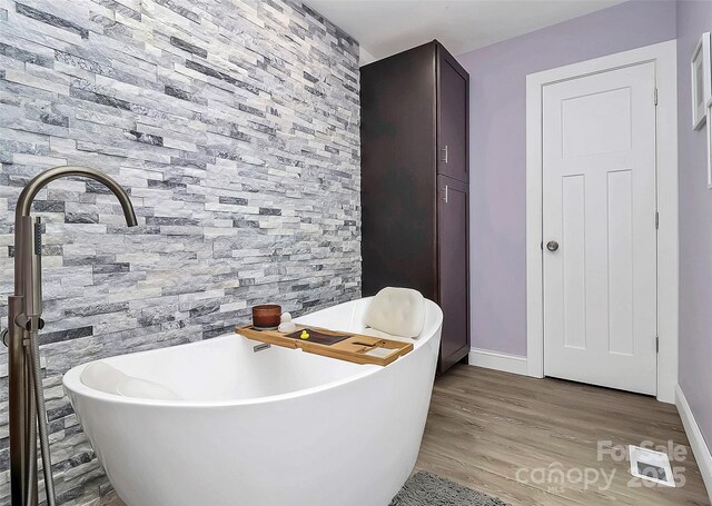
<instances>
[{"instance_id":1,"label":"tall dark brown two-door linen cabinet in the corner","mask_svg":"<svg viewBox=\"0 0 712 506\"><path fill-rule=\"evenodd\" d=\"M363 292L439 304L438 374L469 353L468 97L437 41L360 69Z\"/></svg>"}]
</instances>

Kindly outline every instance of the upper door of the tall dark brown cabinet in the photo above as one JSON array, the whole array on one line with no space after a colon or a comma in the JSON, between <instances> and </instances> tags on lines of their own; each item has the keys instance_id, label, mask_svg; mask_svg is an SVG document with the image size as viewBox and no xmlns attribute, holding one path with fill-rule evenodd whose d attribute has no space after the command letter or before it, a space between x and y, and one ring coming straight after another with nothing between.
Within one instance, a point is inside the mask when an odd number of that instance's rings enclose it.
<instances>
[{"instance_id":1,"label":"upper door of the tall dark brown cabinet","mask_svg":"<svg viewBox=\"0 0 712 506\"><path fill-rule=\"evenodd\" d=\"M467 182L468 75L439 51L437 172Z\"/></svg>"}]
</instances>

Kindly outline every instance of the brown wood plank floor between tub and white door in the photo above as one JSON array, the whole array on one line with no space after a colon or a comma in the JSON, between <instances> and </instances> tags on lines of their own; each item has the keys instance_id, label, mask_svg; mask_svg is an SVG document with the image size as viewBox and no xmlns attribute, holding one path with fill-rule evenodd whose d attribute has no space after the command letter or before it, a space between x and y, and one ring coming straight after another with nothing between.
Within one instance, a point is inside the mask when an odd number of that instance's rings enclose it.
<instances>
[{"instance_id":1,"label":"brown wood plank floor between tub and white door","mask_svg":"<svg viewBox=\"0 0 712 506\"><path fill-rule=\"evenodd\" d=\"M678 474L684 485L670 488L643 483L631 476L626 460L616 462L611 455L599 460L601 440L623 447L646 440L680 445L686 456L676 462L671 457L671 465L681 468ZM553 468L562 469L570 479L547 482L546 473ZM587 486L580 479L580 472L586 468L595 482ZM710 505L673 405L466 365L455 366L435 383L416 469L515 506ZM518 469L524 470L517 474Z\"/></svg>"}]
</instances>

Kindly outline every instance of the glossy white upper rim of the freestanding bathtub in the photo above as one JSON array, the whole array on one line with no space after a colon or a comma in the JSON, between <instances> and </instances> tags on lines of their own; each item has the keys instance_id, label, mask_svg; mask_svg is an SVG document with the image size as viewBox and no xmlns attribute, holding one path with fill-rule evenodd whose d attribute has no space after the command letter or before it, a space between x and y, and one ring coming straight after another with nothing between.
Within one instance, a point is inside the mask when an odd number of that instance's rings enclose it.
<instances>
[{"instance_id":1,"label":"glossy white upper rim of the freestanding bathtub","mask_svg":"<svg viewBox=\"0 0 712 506\"><path fill-rule=\"evenodd\" d=\"M363 300L363 299L356 299L356 300ZM348 304L348 302L345 302ZM325 390L330 390L334 388L338 388L343 385L346 385L348 383L358 380L358 379L363 379L367 376L374 375L374 374L378 374L378 373L383 373L385 370L387 370L388 367L395 366L398 363L402 363L403 360L407 360L408 356L411 354L415 354L417 353L421 348L425 347L433 338L435 338L436 335L438 335L438 333L442 331L442 326L443 326L443 312L439 308L439 306L437 306L435 302L426 299L426 304L428 305L428 310L434 309L436 310L436 325L434 325L433 330L426 335L426 336L422 336L418 339L414 339L413 340L413 345L414 345L414 349L413 351L411 351L407 355L404 355L402 357L398 357L396 360L394 360L392 364L387 365L387 366L377 366L374 364L354 364L354 363L349 363L359 367L363 367L364 370L363 371L356 371L353 374L349 374L347 376L345 376L344 378L340 379L336 379L334 381L328 381L318 386L314 386L314 387L308 387L308 388L303 388L299 390L295 390L295 391L288 391L285 394L277 394L277 395L271 395L271 396L265 396L265 397L253 397L253 398L248 398L248 399L231 399L231 400L162 400L162 399L142 399L139 397L125 397L125 396L120 396L120 395L116 395L116 394L108 394L101 390L97 390L95 388L88 387L87 385L85 385L81 381L81 373L83 373L83 370L93 363L97 361L101 361L101 360L110 360L113 357L106 357L106 358L99 358L96 360L90 360L86 364L80 364L78 366L72 367L71 369L69 369L67 373L65 373L62 375L62 388L65 390L65 394L67 394L68 397L71 398L72 395L79 395L82 397L87 397L93 400L99 400L99 401L105 401L105 403L110 403L110 404L115 404L115 405L130 405L130 406L155 406L155 407L161 407L161 408L177 408L177 409L182 409L182 408L208 408L208 407L215 407L215 408L221 408L221 407L235 407L235 406L249 406L249 405L263 405L263 404L270 404L270 403L278 403L278 401L283 401L283 400L288 400L288 399L295 399L295 398L299 398L299 397L305 397L308 395L314 395L314 394L318 394L320 391L325 391ZM328 308L327 308L328 309ZM136 351L136 353L129 353L129 354L122 354L122 355L116 355L115 357L122 357L122 356L128 356L128 355L144 355L144 354L156 354L156 353L160 353L162 350L167 350L170 348L177 348L177 347L191 347L191 346L209 346L212 343L216 341L222 341L222 340L227 340L227 339L235 339L235 338L243 338L243 339L248 339L244 336L240 336L236 333L230 333L230 334L224 334L221 336L217 336L210 339L202 339L199 341L195 341L195 343L187 343L184 345L178 345L178 346L172 346L172 347L165 347L165 348L156 348L156 349L149 349L149 350L145 350L145 351ZM258 341L254 341L259 344ZM290 351L297 351L297 353L306 353L301 349L290 349ZM310 354L310 355L315 355L319 358L323 358L325 360L336 360L335 358L329 358L329 357L324 357L320 355L316 355L316 354ZM110 365L110 364L109 364Z\"/></svg>"}]
</instances>

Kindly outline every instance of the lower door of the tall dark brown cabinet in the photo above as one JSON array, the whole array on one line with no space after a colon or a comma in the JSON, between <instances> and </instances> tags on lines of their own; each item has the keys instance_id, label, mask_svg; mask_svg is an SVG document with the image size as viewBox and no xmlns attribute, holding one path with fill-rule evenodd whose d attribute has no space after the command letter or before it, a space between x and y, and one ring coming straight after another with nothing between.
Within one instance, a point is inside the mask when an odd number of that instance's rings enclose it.
<instances>
[{"instance_id":1,"label":"lower door of the tall dark brown cabinet","mask_svg":"<svg viewBox=\"0 0 712 506\"><path fill-rule=\"evenodd\" d=\"M439 373L469 353L468 188L437 177L439 305L443 309Z\"/></svg>"}]
</instances>

